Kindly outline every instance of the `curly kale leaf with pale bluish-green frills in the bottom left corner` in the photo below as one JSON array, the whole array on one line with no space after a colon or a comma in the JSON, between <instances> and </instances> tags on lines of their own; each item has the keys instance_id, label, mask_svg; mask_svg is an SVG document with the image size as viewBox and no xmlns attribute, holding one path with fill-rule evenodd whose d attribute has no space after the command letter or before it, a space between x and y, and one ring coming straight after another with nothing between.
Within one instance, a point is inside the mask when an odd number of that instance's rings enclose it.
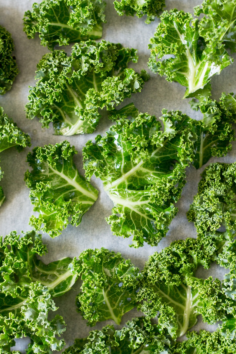
<instances>
[{"instance_id":1,"label":"curly kale leaf with pale bluish-green frills in the bottom left corner","mask_svg":"<svg viewBox=\"0 0 236 354\"><path fill-rule=\"evenodd\" d=\"M1 303L4 300L1 296ZM56 315L52 320L48 320L48 312L56 311L57 307L47 287L42 286L40 282L31 283L28 298L17 304L21 305L17 312L14 303L10 307L10 301L7 299L7 304L8 314L0 314L1 347L12 346L14 338L26 336L33 342L28 352L43 354L50 352L50 349L59 351L64 347L64 340L57 338L65 331L62 317Z\"/></svg>"}]
</instances>

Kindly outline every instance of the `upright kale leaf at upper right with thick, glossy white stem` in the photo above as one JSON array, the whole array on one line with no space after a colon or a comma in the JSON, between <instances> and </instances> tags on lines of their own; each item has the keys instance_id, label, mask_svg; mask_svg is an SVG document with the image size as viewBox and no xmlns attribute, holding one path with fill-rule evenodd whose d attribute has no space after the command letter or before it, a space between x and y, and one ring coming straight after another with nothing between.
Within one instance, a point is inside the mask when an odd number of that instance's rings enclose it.
<instances>
[{"instance_id":1,"label":"upright kale leaf at upper right with thick, glossy white stem","mask_svg":"<svg viewBox=\"0 0 236 354\"><path fill-rule=\"evenodd\" d=\"M218 1L215 1L218 4ZM150 40L151 57L149 67L154 73L166 76L167 81L177 81L186 87L184 97L192 97L210 81L214 74L232 63L232 58L224 48L224 36L219 38L218 50L213 48L208 36L213 29L209 28L207 35L202 37L201 23L190 13L164 11L160 16L155 35ZM218 28L218 23L216 23ZM168 55L169 58L164 57ZM156 60L156 57L160 60Z\"/></svg>"}]
</instances>

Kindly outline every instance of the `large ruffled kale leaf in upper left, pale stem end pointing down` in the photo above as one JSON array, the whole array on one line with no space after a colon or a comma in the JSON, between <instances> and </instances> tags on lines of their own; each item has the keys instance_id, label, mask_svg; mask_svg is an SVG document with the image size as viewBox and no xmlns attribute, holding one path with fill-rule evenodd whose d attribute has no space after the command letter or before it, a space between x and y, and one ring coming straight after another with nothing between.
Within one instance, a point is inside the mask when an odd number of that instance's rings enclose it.
<instances>
[{"instance_id":1,"label":"large ruffled kale leaf in upper left, pale stem end pointing down","mask_svg":"<svg viewBox=\"0 0 236 354\"><path fill-rule=\"evenodd\" d=\"M104 40L75 44L69 57L64 51L45 54L30 88L27 117L37 116L43 127L53 122L57 135L92 133L100 109L113 110L148 80L144 70L139 75L127 68L137 60L137 50Z\"/></svg>"}]
</instances>

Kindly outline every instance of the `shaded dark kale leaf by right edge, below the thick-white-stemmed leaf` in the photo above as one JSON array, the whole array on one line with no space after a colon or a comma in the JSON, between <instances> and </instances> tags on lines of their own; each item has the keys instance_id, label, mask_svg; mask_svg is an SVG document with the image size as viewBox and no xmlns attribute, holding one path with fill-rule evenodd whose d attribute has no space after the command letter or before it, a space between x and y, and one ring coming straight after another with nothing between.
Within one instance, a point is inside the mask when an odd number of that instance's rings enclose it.
<instances>
[{"instance_id":1,"label":"shaded dark kale leaf by right edge, below the thick-white-stemmed leaf","mask_svg":"<svg viewBox=\"0 0 236 354\"><path fill-rule=\"evenodd\" d=\"M230 142L235 140L231 124L233 116L224 98L225 93L222 95L219 103L209 98L202 99L199 108L203 119L192 123L197 135L192 161L196 169L206 164L211 156L225 156L232 149Z\"/></svg>"}]
</instances>

